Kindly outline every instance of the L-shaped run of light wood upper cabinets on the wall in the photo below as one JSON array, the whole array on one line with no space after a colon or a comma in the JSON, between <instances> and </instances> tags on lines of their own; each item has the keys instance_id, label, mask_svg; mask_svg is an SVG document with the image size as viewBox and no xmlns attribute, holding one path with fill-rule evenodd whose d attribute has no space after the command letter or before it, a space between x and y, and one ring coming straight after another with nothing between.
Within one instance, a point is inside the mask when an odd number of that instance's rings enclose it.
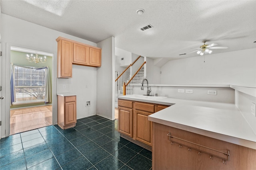
<instances>
[{"instance_id":1,"label":"L-shaped run of light wood upper cabinets on the wall","mask_svg":"<svg viewBox=\"0 0 256 170\"><path fill-rule=\"evenodd\" d=\"M101 49L58 37L58 78L72 77L72 64L101 66Z\"/></svg>"}]
</instances>

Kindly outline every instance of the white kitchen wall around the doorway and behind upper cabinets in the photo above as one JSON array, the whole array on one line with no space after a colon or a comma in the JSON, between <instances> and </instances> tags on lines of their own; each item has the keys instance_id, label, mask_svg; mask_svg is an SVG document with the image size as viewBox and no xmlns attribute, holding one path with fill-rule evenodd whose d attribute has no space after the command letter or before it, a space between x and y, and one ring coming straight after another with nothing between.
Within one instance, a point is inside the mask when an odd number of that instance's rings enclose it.
<instances>
[{"instance_id":1,"label":"white kitchen wall around the doorway and behind upper cabinets","mask_svg":"<svg viewBox=\"0 0 256 170\"><path fill-rule=\"evenodd\" d=\"M38 51L44 51L48 53L53 53L53 114L56 119L56 92L74 92L77 94L78 98L78 118L86 117L88 115L96 114L96 93L91 92L95 90L96 87L96 68L86 68L86 66L75 66L73 65L73 78L56 78L56 56L57 56L57 42L56 39L61 36L74 41L85 43L88 45L96 46L96 43L74 37L59 31L48 29L34 23L30 23L18 18L14 18L5 14L1 14L1 35L2 35L2 96L6 99L2 100L2 136L5 135L6 122L9 123L10 115L10 52L6 45L17 45L28 49L36 49ZM7 50L7 51L6 51ZM8 70L8 71L6 71ZM89 73L89 74L88 74ZM79 75L77 75L79 74ZM86 75L86 76L84 76ZM78 84L78 82L80 84ZM89 83L90 82L90 83ZM84 89L84 84L88 83L88 88ZM66 89L63 89L63 84L66 84ZM88 93L90 92L90 93ZM85 97L91 95L90 97ZM80 101L82 100L82 101ZM91 100L91 106L85 108L84 101ZM86 110L88 109L88 110ZM83 112L80 112L83 111ZM9 116L9 117L8 117ZM9 120L8 120L9 119ZM56 123L56 122L55 122ZM8 133L8 132L7 132Z\"/></svg>"}]
</instances>

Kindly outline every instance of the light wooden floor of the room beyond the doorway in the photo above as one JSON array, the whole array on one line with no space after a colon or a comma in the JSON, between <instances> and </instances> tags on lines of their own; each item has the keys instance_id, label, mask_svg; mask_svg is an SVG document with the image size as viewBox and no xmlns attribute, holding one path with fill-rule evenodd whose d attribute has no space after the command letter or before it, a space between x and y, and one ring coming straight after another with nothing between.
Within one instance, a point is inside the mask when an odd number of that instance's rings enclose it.
<instances>
[{"instance_id":1,"label":"light wooden floor of the room beyond the doorway","mask_svg":"<svg viewBox=\"0 0 256 170\"><path fill-rule=\"evenodd\" d=\"M52 105L10 110L10 135L52 125Z\"/></svg>"}]
</instances>

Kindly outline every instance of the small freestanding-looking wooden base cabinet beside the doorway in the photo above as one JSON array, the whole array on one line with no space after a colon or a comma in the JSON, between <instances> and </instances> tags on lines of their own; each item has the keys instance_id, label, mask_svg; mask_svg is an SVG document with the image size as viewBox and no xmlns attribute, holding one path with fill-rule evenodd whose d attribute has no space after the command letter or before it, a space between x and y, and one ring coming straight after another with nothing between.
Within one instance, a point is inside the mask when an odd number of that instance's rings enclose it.
<instances>
[{"instance_id":1,"label":"small freestanding-looking wooden base cabinet beside the doorway","mask_svg":"<svg viewBox=\"0 0 256 170\"><path fill-rule=\"evenodd\" d=\"M68 129L76 125L76 96L57 96L58 125Z\"/></svg>"}]
</instances>

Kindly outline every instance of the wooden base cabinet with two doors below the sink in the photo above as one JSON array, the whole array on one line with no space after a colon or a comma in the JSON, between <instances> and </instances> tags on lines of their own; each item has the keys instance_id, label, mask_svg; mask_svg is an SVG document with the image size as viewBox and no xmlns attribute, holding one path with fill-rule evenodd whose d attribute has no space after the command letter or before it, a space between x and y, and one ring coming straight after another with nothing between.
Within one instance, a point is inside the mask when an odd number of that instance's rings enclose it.
<instances>
[{"instance_id":1,"label":"wooden base cabinet with two doors below the sink","mask_svg":"<svg viewBox=\"0 0 256 170\"><path fill-rule=\"evenodd\" d=\"M169 106L119 99L118 131L122 137L151 150L152 122L148 116L166 107Z\"/></svg>"}]
</instances>

